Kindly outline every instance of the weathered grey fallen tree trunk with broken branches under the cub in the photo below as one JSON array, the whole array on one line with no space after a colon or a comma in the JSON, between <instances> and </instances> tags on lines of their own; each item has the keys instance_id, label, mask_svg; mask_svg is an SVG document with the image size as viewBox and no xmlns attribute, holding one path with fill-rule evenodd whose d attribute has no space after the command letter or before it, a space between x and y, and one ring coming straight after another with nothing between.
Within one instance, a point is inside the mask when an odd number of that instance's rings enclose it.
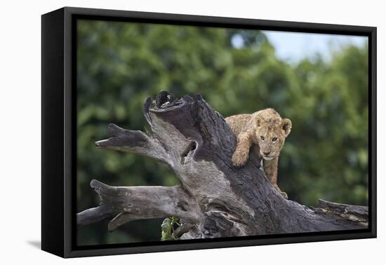
<instances>
[{"instance_id":1,"label":"weathered grey fallen tree trunk with broken branches under the cub","mask_svg":"<svg viewBox=\"0 0 386 265\"><path fill-rule=\"evenodd\" d=\"M96 146L155 158L168 165L181 184L115 187L93 180L100 205L79 212L78 225L116 215L109 222L113 230L136 219L176 216L181 238L367 228L366 207L320 200L313 209L284 199L253 153L244 168L234 168L236 137L201 95L177 100L161 91L156 100L147 98L144 114L152 134L110 124L111 137Z\"/></svg>"}]
</instances>

